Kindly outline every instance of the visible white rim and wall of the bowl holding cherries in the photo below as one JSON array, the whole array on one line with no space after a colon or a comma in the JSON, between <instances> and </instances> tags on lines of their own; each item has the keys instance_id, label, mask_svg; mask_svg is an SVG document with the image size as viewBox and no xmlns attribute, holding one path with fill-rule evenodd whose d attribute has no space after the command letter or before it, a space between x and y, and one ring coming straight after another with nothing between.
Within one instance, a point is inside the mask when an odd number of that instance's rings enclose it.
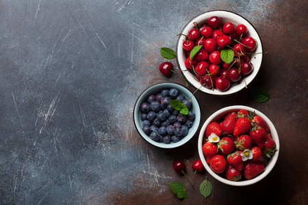
<instances>
[{"instance_id":1,"label":"visible white rim and wall of the bowl holding cherries","mask_svg":"<svg viewBox=\"0 0 308 205\"><path fill-rule=\"evenodd\" d=\"M215 10L215 11L205 12L203 14L196 16L192 20L190 20L190 22L184 27L181 33L187 35L188 31L190 31L190 29L194 27L194 24L193 24L194 22L198 23L198 25L202 25L203 23L206 23L207 19L210 18L211 16L220 17L220 20L223 23L231 22L235 25L238 25L239 23L246 25L247 31L248 31L247 36L251 36L252 38L257 40L257 50L255 51L255 53L259 53L259 54L255 55L255 58L253 57L251 59L251 64L253 64L254 66L253 72L251 72L251 74L249 74L248 76L244 77L246 84L248 85L249 83L251 83L251 81L253 81L253 79L257 75L257 72L260 69L261 61L263 58L263 53L262 53L263 48L262 48L261 38L259 37L257 30L255 29L255 27L253 27L251 23L249 23L248 20L246 20L246 18L240 16L239 14L235 14L233 12L228 12L224 10ZM181 69L182 71L188 70L185 66L186 55L182 47L183 40L186 40L186 37L183 35L180 35L179 40L177 41L177 52L176 52L177 53L177 63L179 65L179 69ZM194 87L196 88L201 87L201 83L195 79L195 77L192 75L192 72L187 71L187 72L181 72L181 73L183 74L185 79L187 79L187 81L190 82L190 84L192 84ZM214 89L213 91L207 87L201 87L200 90L208 94L228 95L228 94L233 94L235 92L238 92L242 90L244 87L246 87L246 85L245 85L245 82L242 80L240 81L240 83L238 82L231 83L229 90L224 91L224 92L221 92L217 89Z\"/></svg>"}]
</instances>

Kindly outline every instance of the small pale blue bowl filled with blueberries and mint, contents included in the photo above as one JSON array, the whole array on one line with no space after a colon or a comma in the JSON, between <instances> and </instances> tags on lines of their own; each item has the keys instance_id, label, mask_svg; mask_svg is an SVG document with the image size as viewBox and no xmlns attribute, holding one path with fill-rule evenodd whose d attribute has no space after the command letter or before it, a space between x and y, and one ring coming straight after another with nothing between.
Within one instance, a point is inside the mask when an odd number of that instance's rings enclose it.
<instances>
[{"instance_id":1,"label":"small pale blue bowl filled with blueberries and mint, contents included","mask_svg":"<svg viewBox=\"0 0 308 205\"><path fill-rule=\"evenodd\" d=\"M141 137L159 148L177 148L198 130L201 110L195 96L178 83L146 88L133 108L133 122Z\"/></svg>"}]
</instances>

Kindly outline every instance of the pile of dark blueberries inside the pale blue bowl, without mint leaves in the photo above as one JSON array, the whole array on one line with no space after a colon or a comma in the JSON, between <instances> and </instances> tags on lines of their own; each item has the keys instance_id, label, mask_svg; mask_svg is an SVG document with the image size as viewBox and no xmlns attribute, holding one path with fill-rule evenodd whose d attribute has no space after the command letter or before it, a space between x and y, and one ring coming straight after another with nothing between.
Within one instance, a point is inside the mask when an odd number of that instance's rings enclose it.
<instances>
[{"instance_id":1,"label":"pile of dark blueberries inside the pale blue bowl, without mint leaves","mask_svg":"<svg viewBox=\"0 0 308 205\"><path fill-rule=\"evenodd\" d=\"M170 100L177 100L180 105L172 107ZM187 109L186 114L176 109L181 106ZM163 89L157 94L149 95L140 109L142 131L154 141L164 143L175 143L188 135L196 117L192 111L192 102L176 88Z\"/></svg>"}]
</instances>

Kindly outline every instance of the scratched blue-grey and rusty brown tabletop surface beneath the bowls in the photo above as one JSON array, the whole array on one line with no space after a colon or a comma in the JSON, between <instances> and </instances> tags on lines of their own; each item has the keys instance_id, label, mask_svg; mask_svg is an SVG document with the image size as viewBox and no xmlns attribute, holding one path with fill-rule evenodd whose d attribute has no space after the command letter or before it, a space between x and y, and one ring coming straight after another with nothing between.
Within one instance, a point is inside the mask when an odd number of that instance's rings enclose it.
<instances>
[{"instance_id":1,"label":"scratched blue-grey and rusty brown tabletop surface beneath the bowls","mask_svg":"<svg viewBox=\"0 0 308 205\"><path fill-rule=\"evenodd\" d=\"M159 49L175 49L191 18L216 9L250 20L268 51L252 83L268 102L253 102L246 90L196 92L201 124L222 107L247 105L276 126L277 165L249 187L193 174L198 134L162 150L133 124L142 90L185 85L159 73ZM0 204L307 204L307 9L304 0L0 0ZM172 170L175 159L196 191ZM207 199L198 191L205 177L214 187ZM174 180L188 199L172 193Z\"/></svg>"}]
</instances>

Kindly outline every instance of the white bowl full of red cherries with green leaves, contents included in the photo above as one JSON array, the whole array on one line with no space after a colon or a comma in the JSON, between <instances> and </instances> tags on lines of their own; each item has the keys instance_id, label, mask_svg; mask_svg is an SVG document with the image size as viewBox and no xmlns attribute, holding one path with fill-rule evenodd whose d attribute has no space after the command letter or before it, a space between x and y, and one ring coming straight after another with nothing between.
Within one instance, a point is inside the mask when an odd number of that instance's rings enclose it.
<instances>
[{"instance_id":1,"label":"white bowl full of red cherries with green leaves, contents included","mask_svg":"<svg viewBox=\"0 0 308 205\"><path fill-rule=\"evenodd\" d=\"M238 92L253 81L261 66L261 38L239 14L224 10L205 12L190 20L178 36L179 69L202 92Z\"/></svg>"}]
</instances>

